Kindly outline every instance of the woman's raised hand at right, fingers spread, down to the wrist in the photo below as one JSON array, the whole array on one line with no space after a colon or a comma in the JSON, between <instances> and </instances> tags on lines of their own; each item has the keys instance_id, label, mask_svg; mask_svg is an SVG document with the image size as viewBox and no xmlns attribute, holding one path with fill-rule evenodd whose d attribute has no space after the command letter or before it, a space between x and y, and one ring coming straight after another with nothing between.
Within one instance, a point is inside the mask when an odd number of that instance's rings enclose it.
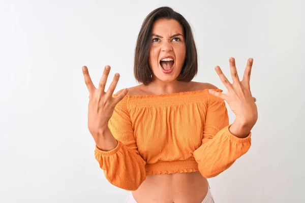
<instances>
[{"instance_id":1,"label":"woman's raised hand at right, fingers spread, down to the wrist","mask_svg":"<svg viewBox=\"0 0 305 203\"><path fill-rule=\"evenodd\" d=\"M232 84L223 74L220 67L215 67L217 74L219 75L223 84L228 89L228 92L226 94L216 92L214 90L209 90L209 92L227 101L230 109L236 116L235 121L237 123L247 126L254 126L257 121L257 106L255 104L256 99L252 96L250 90L250 75L253 64L253 58L248 59L247 67L245 73L243 74L242 81L239 81L235 66L235 59L232 57L230 58L229 62L231 76L233 79Z\"/></svg>"}]
</instances>

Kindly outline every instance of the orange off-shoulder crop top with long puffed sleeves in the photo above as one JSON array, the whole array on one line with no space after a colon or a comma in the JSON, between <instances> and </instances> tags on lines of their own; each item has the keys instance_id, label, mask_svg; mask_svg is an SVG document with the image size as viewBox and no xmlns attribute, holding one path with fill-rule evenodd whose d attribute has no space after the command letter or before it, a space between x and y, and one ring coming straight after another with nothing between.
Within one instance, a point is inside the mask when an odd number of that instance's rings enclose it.
<instances>
[{"instance_id":1,"label":"orange off-shoulder crop top with long puffed sleeves","mask_svg":"<svg viewBox=\"0 0 305 203\"><path fill-rule=\"evenodd\" d=\"M125 190L136 190L148 175L199 171L215 177L251 145L251 132L240 139L230 125L225 101L207 89L127 95L108 123L118 145L110 151L96 146L95 157L107 180Z\"/></svg>"}]
</instances>

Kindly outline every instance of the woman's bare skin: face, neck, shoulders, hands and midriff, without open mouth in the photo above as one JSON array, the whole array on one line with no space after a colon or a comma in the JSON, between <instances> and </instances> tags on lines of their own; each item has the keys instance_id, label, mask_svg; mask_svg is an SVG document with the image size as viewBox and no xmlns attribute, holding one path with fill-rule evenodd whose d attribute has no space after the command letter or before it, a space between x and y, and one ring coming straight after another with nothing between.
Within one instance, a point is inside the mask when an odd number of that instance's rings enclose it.
<instances>
[{"instance_id":1,"label":"woman's bare skin: face, neck, shoulders, hands and midriff, without open mouth","mask_svg":"<svg viewBox=\"0 0 305 203\"><path fill-rule=\"evenodd\" d=\"M125 95L159 95L184 91L196 91L204 89L218 89L209 83L181 82L176 78L180 74L186 55L186 45L182 27L175 20L160 19L154 23L152 33L160 37L151 37L151 49L149 63L154 73L154 81L147 86L138 85L129 89L118 91L117 97L112 98L119 74L114 76L107 92L105 85L109 75L110 66L106 66L99 87L95 88L86 66L83 66L83 75L89 91L88 104L88 128L98 148L109 151L116 147L117 142L112 136L107 123L113 113L115 105ZM177 40L170 38L180 33ZM162 38L161 38L162 37ZM156 39L156 40L155 40ZM171 74L165 74L161 70L160 58L171 55L174 57L174 70ZM233 59L233 61L231 61ZM220 93L214 90L211 94L227 101L236 119L230 127L234 136L245 138L257 121L256 99L250 91L250 75L253 59L249 58L242 81L239 81L234 58L230 58L230 70L233 83L231 84L223 74L219 66L215 70L221 81L228 89L228 93ZM106 68L109 68L107 70ZM208 191L208 181L199 172L175 173L169 175L147 176L140 187L133 191L133 196L138 203L162 202L162 203L194 203L201 202Z\"/></svg>"}]
</instances>

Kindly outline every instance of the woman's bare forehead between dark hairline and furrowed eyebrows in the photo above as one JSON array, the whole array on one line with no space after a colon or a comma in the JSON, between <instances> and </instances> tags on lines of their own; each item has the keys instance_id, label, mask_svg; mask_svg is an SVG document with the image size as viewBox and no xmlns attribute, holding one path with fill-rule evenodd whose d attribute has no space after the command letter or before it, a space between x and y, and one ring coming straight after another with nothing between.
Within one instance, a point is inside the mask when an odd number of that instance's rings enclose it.
<instances>
[{"instance_id":1,"label":"woman's bare forehead between dark hairline and furrowed eyebrows","mask_svg":"<svg viewBox=\"0 0 305 203\"><path fill-rule=\"evenodd\" d=\"M159 19L156 20L153 24L153 28L151 29L152 34L157 34L157 35L173 35L175 33L180 33L183 35L183 28L179 24L178 21L174 19Z\"/></svg>"}]
</instances>

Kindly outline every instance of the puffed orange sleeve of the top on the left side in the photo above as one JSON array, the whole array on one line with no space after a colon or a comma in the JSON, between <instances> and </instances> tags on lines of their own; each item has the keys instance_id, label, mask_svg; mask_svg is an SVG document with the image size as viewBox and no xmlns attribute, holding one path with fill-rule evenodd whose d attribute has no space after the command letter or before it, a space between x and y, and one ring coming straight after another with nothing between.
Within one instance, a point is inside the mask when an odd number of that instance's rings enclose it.
<instances>
[{"instance_id":1,"label":"puffed orange sleeve of the top on the left side","mask_svg":"<svg viewBox=\"0 0 305 203\"><path fill-rule=\"evenodd\" d=\"M118 145L110 151L102 151L96 146L95 157L112 185L125 190L136 190L146 179L146 162L137 150L132 122L124 107L126 105L120 102L108 122Z\"/></svg>"}]
</instances>

